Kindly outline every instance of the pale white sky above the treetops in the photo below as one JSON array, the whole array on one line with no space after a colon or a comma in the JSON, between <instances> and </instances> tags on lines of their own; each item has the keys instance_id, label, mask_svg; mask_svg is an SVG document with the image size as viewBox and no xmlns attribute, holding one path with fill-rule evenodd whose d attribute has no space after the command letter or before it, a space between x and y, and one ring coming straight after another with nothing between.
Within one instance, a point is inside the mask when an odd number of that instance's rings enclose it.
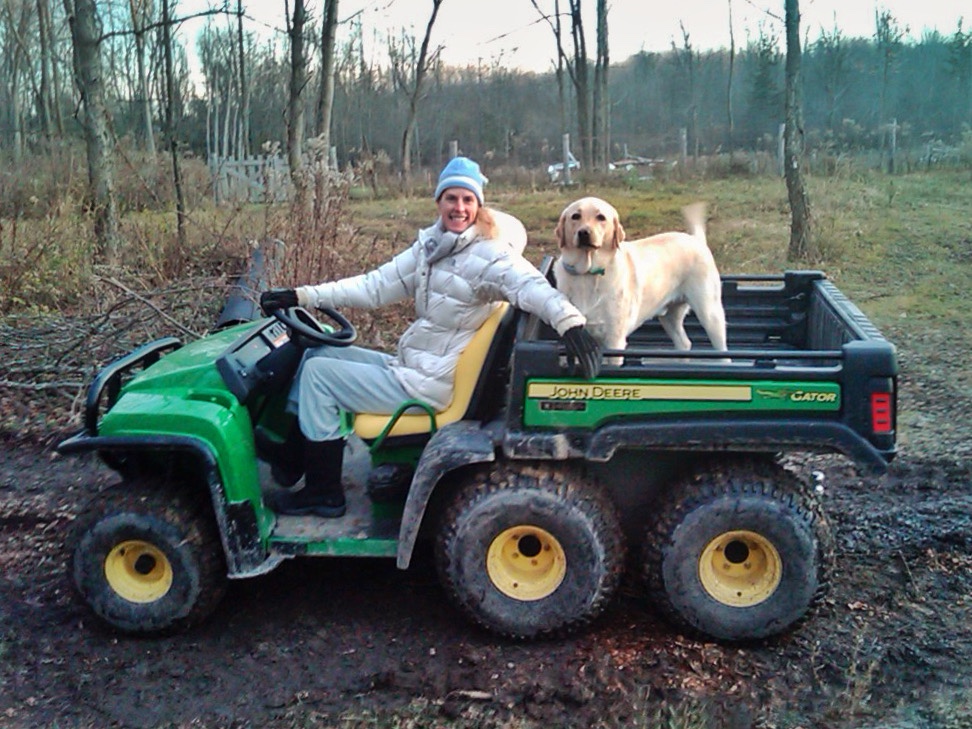
<instances>
[{"instance_id":1,"label":"pale white sky above the treetops","mask_svg":"<svg viewBox=\"0 0 972 729\"><path fill-rule=\"evenodd\" d=\"M212 0L210 0L212 1ZM323 0L306 0L310 12L319 17ZM612 63L618 63L639 51L666 51L674 41L682 46L682 27L696 50L728 48L729 7L732 7L736 47L743 47L747 37L755 38L760 23L768 32L782 35L783 0L611 0L608 14L609 44ZM537 0L544 9L553 8L553 0ZM292 0L290 3L292 5ZM204 6L205 0L183 0L179 7L188 12ZM230 3L235 6L235 3ZM561 0L562 8L567 5ZM585 18L589 39L594 38L593 10L595 0L584 0L592 17ZM283 44L285 0L244 0L253 20L250 29L261 35L276 35ZM361 14L366 42L371 53L381 52L381 41L388 29L405 28L421 39L432 8L431 0L340 0L342 21ZM845 37L874 35L875 12L888 10L906 37L918 40L927 30L951 35L964 16L963 28L972 27L972 2L969 0L801 0L801 28L810 40L840 28ZM339 38L347 33L342 23ZM192 33L191 28L185 32ZM450 65L499 62L509 68L547 71L552 68L554 40L549 25L538 20L530 0L443 0L433 31L433 43L442 46L442 58ZM565 41L569 40L565 38ZM593 40L590 41L593 44ZM593 56L594 49L591 46Z\"/></svg>"}]
</instances>

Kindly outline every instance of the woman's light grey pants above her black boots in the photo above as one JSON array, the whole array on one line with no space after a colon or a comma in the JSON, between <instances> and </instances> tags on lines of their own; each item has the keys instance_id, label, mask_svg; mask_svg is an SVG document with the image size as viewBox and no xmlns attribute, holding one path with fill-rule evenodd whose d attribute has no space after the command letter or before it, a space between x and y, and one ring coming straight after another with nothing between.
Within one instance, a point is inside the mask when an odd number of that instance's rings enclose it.
<instances>
[{"instance_id":1,"label":"woman's light grey pants above her black boots","mask_svg":"<svg viewBox=\"0 0 972 729\"><path fill-rule=\"evenodd\" d=\"M289 398L304 437L340 438L342 410L391 414L411 399L388 366L391 358L363 347L307 350Z\"/></svg>"}]
</instances>

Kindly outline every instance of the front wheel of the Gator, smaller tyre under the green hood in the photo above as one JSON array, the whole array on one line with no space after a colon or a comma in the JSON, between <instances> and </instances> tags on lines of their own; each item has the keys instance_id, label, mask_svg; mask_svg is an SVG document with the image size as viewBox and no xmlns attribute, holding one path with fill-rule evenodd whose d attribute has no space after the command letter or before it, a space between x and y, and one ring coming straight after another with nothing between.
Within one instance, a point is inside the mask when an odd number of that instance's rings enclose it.
<instances>
[{"instance_id":1,"label":"front wheel of the Gator, smaller tyre under the green hood","mask_svg":"<svg viewBox=\"0 0 972 729\"><path fill-rule=\"evenodd\" d=\"M226 564L207 497L133 480L82 517L71 578L99 618L125 632L156 633L212 612L226 590Z\"/></svg>"}]
</instances>

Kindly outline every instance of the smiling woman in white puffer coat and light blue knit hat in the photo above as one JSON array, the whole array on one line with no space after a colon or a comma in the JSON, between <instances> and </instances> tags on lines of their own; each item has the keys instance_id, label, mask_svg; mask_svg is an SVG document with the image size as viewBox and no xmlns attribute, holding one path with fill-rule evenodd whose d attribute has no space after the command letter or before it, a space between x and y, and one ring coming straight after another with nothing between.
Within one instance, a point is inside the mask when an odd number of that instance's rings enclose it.
<instances>
[{"instance_id":1,"label":"smiling woman in white puffer coat and light blue knit hat","mask_svg":"<svg viewBox=\"0 0 972 729\"><path fill-rule=\"evenodd\" d=\"M499 301L543 319L563 338L583 375L597 376L600 349L584 328L583 314L523 257L523 224L485 207L486 182L476 162L453 158L435 188L439 217L419 231L408 250L366 274L260 296L268 314L293 306L375 308L414 298L417 315L396 355L328 346L306 353L291 392L297 440L277 446L294 455L303 451L304 488L271 494L277 513L342 516L341 411L392 413L412 398L444 410L452 400L459 355ZM260 450L271 449L264 444ZM286 480L299 477L294 473Z\"/></svg>"}]
</instances>

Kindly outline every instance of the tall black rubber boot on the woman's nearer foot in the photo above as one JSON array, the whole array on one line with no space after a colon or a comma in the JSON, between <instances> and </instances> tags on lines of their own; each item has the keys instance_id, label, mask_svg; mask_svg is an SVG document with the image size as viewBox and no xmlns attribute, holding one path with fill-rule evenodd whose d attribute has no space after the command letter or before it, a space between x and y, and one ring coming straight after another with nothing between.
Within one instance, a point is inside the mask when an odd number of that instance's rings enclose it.
<instances>
[{"instance_id":1,"label":"tall black rubber boot on the woman's nearer foot","mask_svg":"<svg viewBox=\"0 0 972 729\"><path fill-rule=\"evenodd\" d=\"M298 491L275 491L267 504L278 514L344 516L347 506L341 469L344 466L344 439L306 441L304 448L304 487Z\"/></svg>"}]
</instances>

